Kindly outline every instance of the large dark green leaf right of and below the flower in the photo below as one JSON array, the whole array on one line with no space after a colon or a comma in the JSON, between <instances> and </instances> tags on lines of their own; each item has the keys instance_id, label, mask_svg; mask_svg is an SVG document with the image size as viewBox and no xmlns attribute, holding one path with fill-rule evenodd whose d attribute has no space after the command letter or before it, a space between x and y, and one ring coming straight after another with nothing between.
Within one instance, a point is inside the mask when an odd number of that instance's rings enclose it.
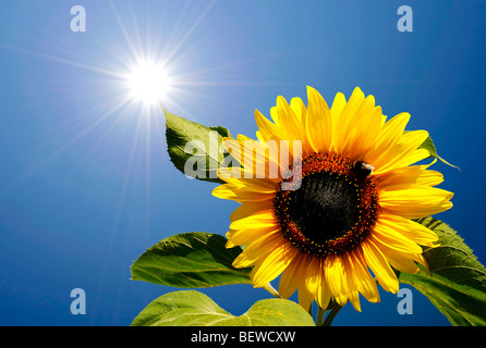
<instances>
[{"instance_id":1,"label":"large dark green leaf right of and below the flower","mask_svg":"<svg viewBox=\"0 0 486 348\"><path fill-rule=\"evenodd\" d=\"M400 273L399 279L424 294L453 325L486 325L486 269L463 239L446 223L420 219L439 236L439 247L424 257L429 274Z\"/></svg>"}]
</instances>

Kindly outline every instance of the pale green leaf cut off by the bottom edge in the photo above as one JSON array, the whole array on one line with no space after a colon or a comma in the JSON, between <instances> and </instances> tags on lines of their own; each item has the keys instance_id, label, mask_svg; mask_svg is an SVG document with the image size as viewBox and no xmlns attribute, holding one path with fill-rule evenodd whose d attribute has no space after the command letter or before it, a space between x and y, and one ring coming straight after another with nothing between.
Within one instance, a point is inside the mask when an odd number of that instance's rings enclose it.
<instances>
[{"instance_id":1,"label":"pale green leaf cut off by the bottom edge","mask_svg":"<svg viewBox=\"0 0 486 348\"><path fill-rule=\"evenodd\" d=\"M255 302L241 316L220 308L195 290L166 294L149 303L132 326L314 326L312 316L297 303L284 299Z\"/></svg>"}]
</instances>

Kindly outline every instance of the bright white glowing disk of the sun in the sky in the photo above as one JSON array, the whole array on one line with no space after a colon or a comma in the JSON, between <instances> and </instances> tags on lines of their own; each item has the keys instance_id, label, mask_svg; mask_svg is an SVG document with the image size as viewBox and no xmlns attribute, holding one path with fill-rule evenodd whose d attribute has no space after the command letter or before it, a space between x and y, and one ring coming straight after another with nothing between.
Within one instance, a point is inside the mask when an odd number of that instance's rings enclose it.
<instances>
[{"instance_id":1,"label":"bright white glowing disk of the sun in the sky","mask_svg":"<svg viewBox=\"0 0 486 348\"><path fill-rule=\"evenodd\" d=\"M153 105L168 97L172 79L162 64L145 61L132 67L126 75L126 84L131 98Z\"/></svg>"}]
</instances>

